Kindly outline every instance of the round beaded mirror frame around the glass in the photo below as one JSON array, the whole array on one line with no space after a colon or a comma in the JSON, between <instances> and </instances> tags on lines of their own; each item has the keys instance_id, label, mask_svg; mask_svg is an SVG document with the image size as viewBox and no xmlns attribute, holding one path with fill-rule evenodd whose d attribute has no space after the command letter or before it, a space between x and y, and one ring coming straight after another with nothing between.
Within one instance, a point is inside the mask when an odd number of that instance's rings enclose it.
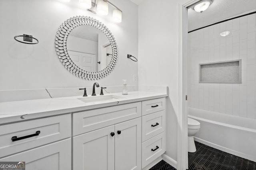
<instances>
[{"instance_id":1,"label":"round beaded mirror frame around the glass","mask_svg":"<svg viewBox=\"0 0 256 170\"><path fill-rule=\"evenodd\" d=\"M100 70L98 72L89 72L79 68L70 59L66 47L68 34L70 33L70 31L72 31L72 29L74 29L75 27L79 27L80 25L91 25L93 27L100 29L100 31L102 31L110 41L112 47L112 59L108 66L106 66L106 68L104 68L103 70ZM100 21L88 16L76 16L64 21L64 23L62 23L62 25L60 25L60 27L58 28L55 38L55 47L58 58L60 59L62 65L70 73L84 80L100 80L108 76L108 74L110 74L115 68L118 59L118 49L116 45L116 40L114 39L114 36L110 32L110 30Z\"/></svg>"}]
</instances>

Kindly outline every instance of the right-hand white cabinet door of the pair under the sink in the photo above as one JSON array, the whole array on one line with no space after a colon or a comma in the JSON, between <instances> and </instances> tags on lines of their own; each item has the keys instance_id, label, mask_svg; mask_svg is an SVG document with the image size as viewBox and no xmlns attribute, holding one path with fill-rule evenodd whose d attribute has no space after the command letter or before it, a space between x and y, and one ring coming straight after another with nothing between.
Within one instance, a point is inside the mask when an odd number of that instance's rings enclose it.
<instances>
[{"instance_id":1,"label":"right-hand white cabinet door of the pair under the sink","mask_svg":"<svg viewBox=\"0 0 256 170\"><path fill-rule=\"evenodd\" d=\"M115 170L141 170L141 117L116 124L115 134Z\"/></svg>"}]
</instances>

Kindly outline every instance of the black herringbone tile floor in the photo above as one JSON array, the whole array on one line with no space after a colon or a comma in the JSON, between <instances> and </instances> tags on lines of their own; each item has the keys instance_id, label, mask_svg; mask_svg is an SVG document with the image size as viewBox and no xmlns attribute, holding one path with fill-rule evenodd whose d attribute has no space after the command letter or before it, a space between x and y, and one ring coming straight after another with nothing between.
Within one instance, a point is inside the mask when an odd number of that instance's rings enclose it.
<instances>
[{"instance_id":1,"label":"black herringbone tile floor","mask_svg":"<svg viewBox=\"0 0 256 170\"><path fill-rule=\"evenodd\" d=\"M196 152L188 152L189 170L256 170L256 162L241 158L199 142ZM164 160L150 170L176 170Z\"/></svg>"}]
</instances>

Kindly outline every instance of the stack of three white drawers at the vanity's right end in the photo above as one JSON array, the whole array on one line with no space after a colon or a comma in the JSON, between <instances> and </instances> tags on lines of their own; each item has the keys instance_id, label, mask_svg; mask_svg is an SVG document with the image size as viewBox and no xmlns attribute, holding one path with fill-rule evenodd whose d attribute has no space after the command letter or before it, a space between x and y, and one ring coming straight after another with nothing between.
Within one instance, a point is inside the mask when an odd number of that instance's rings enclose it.
<instances>
[{"instance_id":1,"label":"stack of three white drawers at the vanity's right end","mask_svg":"<svg viewBox=\"0 0 256 170\"><path fill-rule=\"evenodd\" d=\"M165 152L165 98L142 102L142 168Z\"/></svg>"}]
</instances>

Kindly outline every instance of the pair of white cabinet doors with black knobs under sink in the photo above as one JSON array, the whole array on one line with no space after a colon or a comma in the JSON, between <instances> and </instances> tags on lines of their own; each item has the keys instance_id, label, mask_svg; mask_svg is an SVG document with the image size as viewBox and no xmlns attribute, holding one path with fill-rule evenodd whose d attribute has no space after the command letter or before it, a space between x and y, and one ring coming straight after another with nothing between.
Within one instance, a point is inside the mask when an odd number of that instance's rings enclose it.
<instances>
[{"instance_id":1,"label":"pair of white cabinet doors with black knobs under sink","mask_svg":"<svg viewBox=\"0 0 256 170\"><path fill-rule=\"evenodd\" d=\"M140 169L140 117L78 135L73 139L73 170Z\"/></svg>"}]
</instances>

